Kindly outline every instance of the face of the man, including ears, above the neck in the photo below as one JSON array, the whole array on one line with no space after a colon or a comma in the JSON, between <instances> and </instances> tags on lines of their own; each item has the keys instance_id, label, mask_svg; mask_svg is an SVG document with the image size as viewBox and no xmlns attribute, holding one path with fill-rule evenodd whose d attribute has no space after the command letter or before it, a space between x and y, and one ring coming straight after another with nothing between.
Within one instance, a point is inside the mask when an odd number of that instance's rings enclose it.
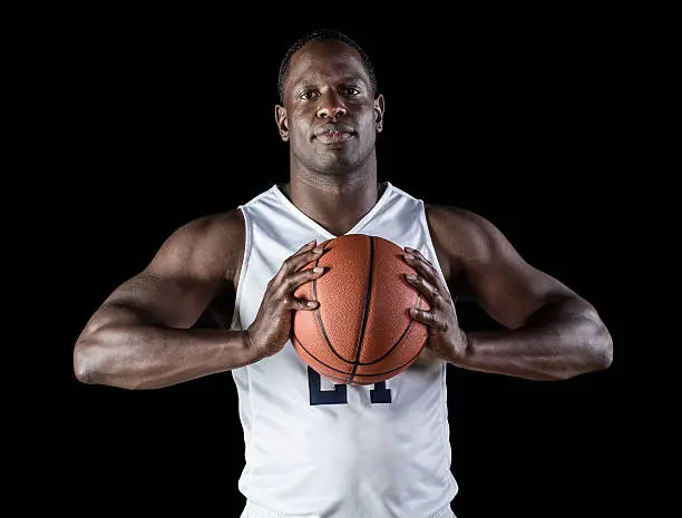
<instances>
[{"instance_id":1,"label":"face of the man, including ears, above the neck","mask_svg":"<svg viewBox=\"0 0 682 518\"><path fill-rule=\"evenodd\" d=\"M294 166L343 174L373 158L383 98L373 98L360 55L337 40L312 41L292 57L284 107L275 116Z\"/></svg>"}]
</instances>

